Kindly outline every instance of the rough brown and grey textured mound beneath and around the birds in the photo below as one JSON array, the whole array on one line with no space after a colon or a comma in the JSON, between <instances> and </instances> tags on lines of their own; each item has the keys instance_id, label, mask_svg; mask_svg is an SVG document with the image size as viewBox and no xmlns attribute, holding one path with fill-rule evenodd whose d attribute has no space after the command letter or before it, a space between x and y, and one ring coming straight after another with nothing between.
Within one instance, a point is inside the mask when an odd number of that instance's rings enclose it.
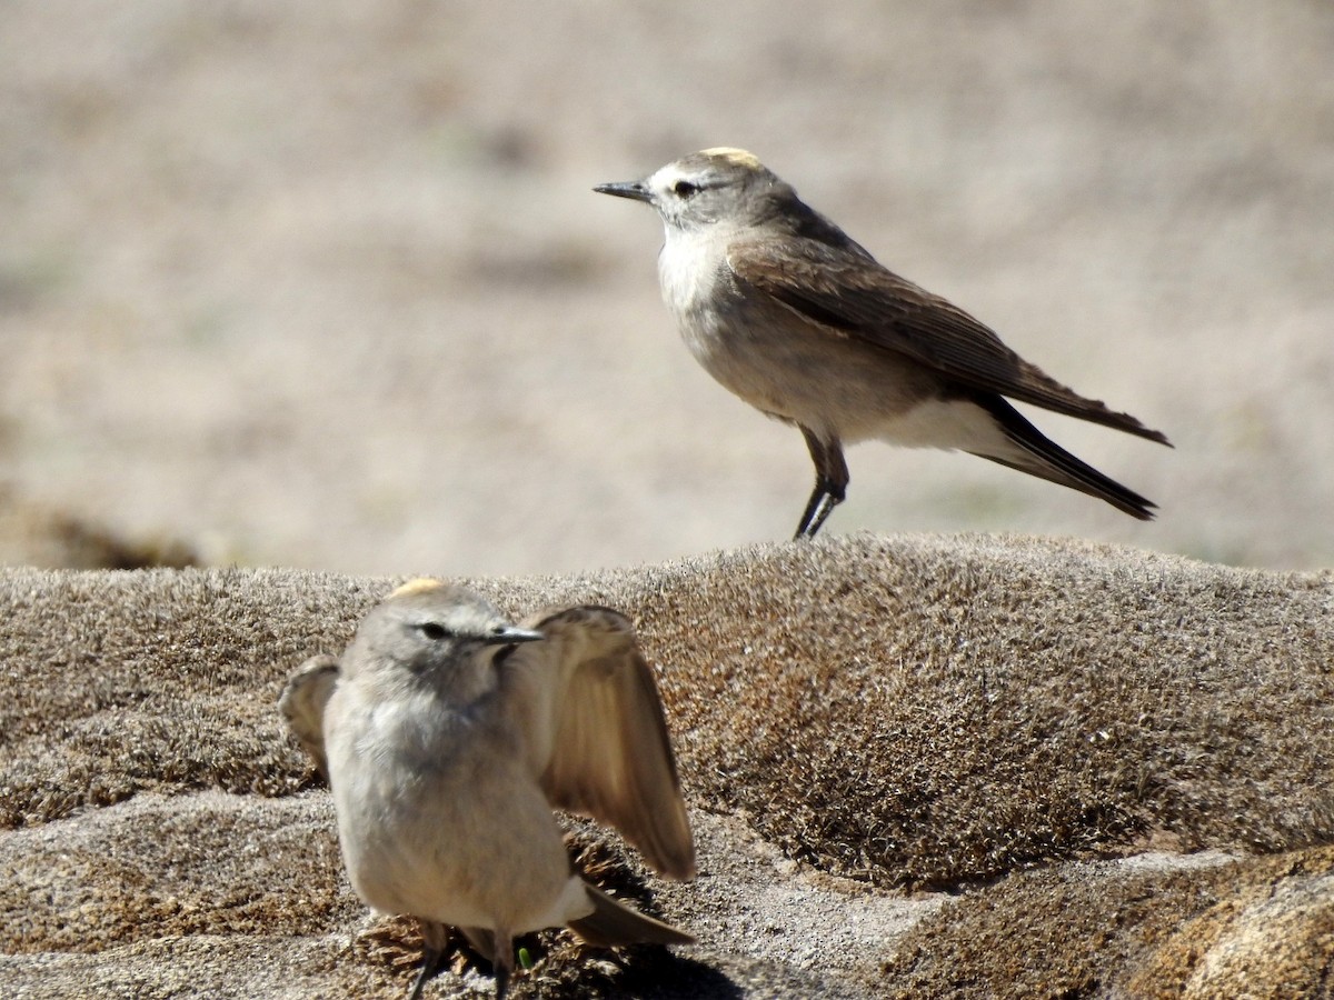
<instances>
[{"instance_id":1,"label":"rough brown and grey textured mound beneath and around the birds","mask_svg":"<svg viewBox=\"0 0 1334 1000\"><path fill-rule=\"evenodd\" d=\"M398 579L0 573L7 996L400 997L275 700ZM1321 996L1334 576L1077 541L856 536L468 580L631 615L700 876L590 872L691 928L563 933L515 996ZM490 989L455 967L431 996Z\"/></svg>"}]
</instances>

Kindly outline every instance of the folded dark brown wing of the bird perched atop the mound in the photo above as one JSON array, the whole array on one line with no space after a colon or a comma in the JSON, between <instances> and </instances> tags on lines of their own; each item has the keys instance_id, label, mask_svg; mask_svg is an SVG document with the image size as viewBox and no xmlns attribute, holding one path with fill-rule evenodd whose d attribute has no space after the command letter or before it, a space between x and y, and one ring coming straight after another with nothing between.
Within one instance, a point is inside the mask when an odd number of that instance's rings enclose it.
<instances>
[{"instance_id":1,"label":"folded dark brown wing of the bird perched atop the mound","mask_svg":"<svg viewBox=\"0 0 1334 1000\"><path fill-rule=\"evenodd\" d=\"M827 229L842 236L832 225ZM792 235L779 248L774 240L739 240L728 248L727 263L736 280L814 320L830 336L858 337L971 388L1167 444L1162 432L1051 379L988 327L880 267L851 241L844 247L838 239Z\"/></svg>"}]
</instances>

